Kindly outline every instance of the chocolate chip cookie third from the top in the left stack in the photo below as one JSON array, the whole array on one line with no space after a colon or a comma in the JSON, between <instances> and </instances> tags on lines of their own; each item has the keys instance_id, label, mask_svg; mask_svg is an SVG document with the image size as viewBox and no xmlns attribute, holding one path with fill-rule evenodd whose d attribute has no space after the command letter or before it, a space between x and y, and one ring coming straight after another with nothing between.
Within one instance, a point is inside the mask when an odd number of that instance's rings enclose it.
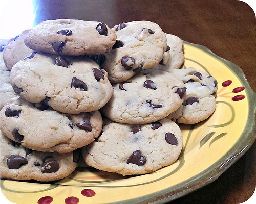
<instances>
[{"instance_id":1,"label":"chocolate chip cookie third from the top in the left stack","mask_svg":"<svg viewBox=\"0 0 256 204\"><path fill-rule=\"evenodd\" d=\"M5 104L0 121L1 131L9 139L29 149L59 153L93 142L102 129L99 111L63 114L19 96Z\"/></svg>"}]
</instances>

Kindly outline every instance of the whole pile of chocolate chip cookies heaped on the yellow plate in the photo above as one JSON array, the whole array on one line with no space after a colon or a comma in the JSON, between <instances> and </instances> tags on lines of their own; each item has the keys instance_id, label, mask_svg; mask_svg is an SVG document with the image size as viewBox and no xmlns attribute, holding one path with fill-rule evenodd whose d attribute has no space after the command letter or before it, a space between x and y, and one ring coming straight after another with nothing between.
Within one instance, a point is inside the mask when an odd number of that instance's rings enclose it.
<instances>
[{"instance_id":1,"label":"whole pile of chocolate chip cookies heaped on the yellow plate","mask_svg":"<svg viewBox=\"0 0 256 204\"><path fill-rule=\"evenodd\" d=\"M182 40L150 21L47 20L1 51L2 178L58 180L81 159L154 172L178 159L178 124L216 108L215 78L182 68Z\"/></svg>"}]
</instances>

